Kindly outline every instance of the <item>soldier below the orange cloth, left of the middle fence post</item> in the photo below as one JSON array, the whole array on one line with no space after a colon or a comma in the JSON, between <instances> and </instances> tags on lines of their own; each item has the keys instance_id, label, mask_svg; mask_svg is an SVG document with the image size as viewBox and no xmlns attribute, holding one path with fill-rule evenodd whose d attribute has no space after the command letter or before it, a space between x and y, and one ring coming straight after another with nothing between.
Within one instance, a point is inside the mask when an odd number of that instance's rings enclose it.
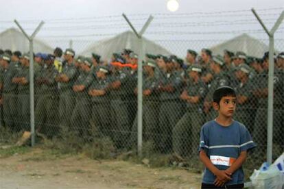
<instances>
[{"instance_id":1,"label":"soldier below the orange cloth, left of the middle fence post","mask_svg":"<svg viewBox=\"0 0 284 189\"><path fill-rule=\"evenodd\" d=\"M128 143L127 138L130 133L128 112L128 79L130 73L120 65L126 63L123 57L117 55L115 62L119 64L113 65L113 74L111 75L111 125L113 127L113 141L117 148L123 149Z\"/></svg>"}]
</instances>

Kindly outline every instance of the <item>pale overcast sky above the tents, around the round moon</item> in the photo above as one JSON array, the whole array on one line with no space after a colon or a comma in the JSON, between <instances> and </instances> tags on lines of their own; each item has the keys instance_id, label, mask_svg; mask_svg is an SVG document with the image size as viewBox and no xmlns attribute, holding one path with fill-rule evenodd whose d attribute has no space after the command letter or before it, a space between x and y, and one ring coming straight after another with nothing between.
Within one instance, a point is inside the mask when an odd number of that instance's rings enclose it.
<instances>
[{"instance_id":1,"label":"pale overcast sky above the tents, around the round moon","mask_svg":"<svg viewBox=\"0 0 284 189\"><path fill-rule=\"evenodd\" d=\"M87 45L86 42L82 42L83 39L86 40L82 36L88 36L88 40L99 40L129 30L129 26L121 16L123 12L138 29L147 20L148 14L154 14L154 21L147 29L145 37L156 41L212 40L202 45L199 42L197 45L201 48L242 33L248 33L259 39L267 38L250 9L257 10L268 28L272 27L284 10L284 0L178 0L178 2L180 8L173 13L167 10L167 0L0 0L0 31L16 27L12 22L16 18L31 34L39 21L43 20L45 25L38 33L38 38L44 38L52 46L58 44L66 46L68 40L80 40L81 43L76 46L82 45L78 49L83 49ZM269 10L271 8L272 10ZM101 16L102 18L98 18ZM275 38L284 38L284 22ZM171 43L164 42L163 45L170 48Z\"/></svg>"}]
</instances>

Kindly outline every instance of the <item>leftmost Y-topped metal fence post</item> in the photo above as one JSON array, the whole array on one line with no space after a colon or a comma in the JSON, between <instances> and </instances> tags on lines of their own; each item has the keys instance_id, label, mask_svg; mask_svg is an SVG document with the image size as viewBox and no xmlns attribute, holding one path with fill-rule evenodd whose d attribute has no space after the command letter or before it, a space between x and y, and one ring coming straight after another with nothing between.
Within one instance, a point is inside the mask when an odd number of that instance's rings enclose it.
<instances>
[{"instance_id":1,"label":"leftmost Y-topped metal fence post","mask_svg":"<svg viewBox=\"0 0 284 189\"><path fill-rule=\"evenodd\" d=\"M38 27L32 33L32 36L28 36L23 27L18 21L14 20L16 25L21 29L27 40L29 40L29 107L30 107L30 122L31 122L31 138L32 147L35 144L35 129L34 129L34 37L43 26L44 22L41 21Z\"/></svg>"}]
</instances>

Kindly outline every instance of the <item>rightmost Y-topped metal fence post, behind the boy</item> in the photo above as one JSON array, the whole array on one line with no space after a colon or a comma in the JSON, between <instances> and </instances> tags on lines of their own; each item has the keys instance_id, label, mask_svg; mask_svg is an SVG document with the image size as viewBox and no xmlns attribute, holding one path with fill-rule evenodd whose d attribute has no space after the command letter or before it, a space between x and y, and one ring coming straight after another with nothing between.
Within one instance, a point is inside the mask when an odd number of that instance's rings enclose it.
<instances>
[{"instance_id":1,"label":"rightmost Y-topped metal fence post, behind the boy","mask_svg":"<svg viewBox=\"0 0 284 189\"><path fill-rule=\"evenodd\" d=\"M264 23L261 21L261 18L255 12L255 9L252 8L252 13L255 14L255 17L263 27L266 34L269 37L269 70L268 70L268 143L267 143L267 162L272 164L272 146L273 146L273 77L274 77L274 33L278 29L279 25L283 21L284 11L281 13L276 23L270 31L265 27Z\"/></svg>"}]
</instances>

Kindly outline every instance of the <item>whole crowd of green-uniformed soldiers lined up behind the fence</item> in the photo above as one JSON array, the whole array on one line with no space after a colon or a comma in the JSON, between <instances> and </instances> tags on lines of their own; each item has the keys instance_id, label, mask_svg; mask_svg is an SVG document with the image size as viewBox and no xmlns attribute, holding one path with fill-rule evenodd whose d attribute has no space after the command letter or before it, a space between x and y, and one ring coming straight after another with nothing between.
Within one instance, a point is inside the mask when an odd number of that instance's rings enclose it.
<instances>
[{"instance_id":1,"label":"whole crowd of green-uniformed soldiers lined up behind the fence","mask_svg":"<svg viewBox=\"0 0 284 189\"><path fill-rule=\"evenodd\" d=\"M146 55L143 139L163 153L196 154L200 127L215 116L213 91L232 86L238 94L235 118L248 127L264 151L268 53L254 58L225 50L223 56L213 56L202 49L200 54L189 49L185 62L175 55ZM110 137L119 149L135 147L136 53L125 49L107 63L95 53L75 59L72 49L62 53L56 48L53 55L37 53L34 61L36 131L50 137L71 131L84 140L94 140L95 133ZM274 139L283 147L284 53L274 61ZM14 131L29 130L29 54L5 51L0 64L3 125Z\"/></svg>"}]
</instances>

